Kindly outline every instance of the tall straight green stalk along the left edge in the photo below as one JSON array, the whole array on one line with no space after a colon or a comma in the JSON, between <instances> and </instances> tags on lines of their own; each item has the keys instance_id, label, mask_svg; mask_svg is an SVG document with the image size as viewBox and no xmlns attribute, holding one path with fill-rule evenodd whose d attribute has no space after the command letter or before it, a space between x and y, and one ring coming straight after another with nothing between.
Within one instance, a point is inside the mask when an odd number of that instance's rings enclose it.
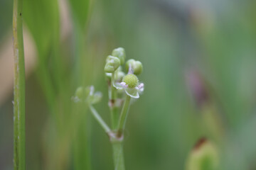
<instances>
[{"instance_id":1,"label":"tall straight green stalk along the left edge","mask_svg":"<svg viewBox=\"0 0 256 170\"><path fill-rule=\"evenodd\" d=\"M25 170L25 66L22 0L14 0L14 170Z\"/></svg>"}]
</instances>

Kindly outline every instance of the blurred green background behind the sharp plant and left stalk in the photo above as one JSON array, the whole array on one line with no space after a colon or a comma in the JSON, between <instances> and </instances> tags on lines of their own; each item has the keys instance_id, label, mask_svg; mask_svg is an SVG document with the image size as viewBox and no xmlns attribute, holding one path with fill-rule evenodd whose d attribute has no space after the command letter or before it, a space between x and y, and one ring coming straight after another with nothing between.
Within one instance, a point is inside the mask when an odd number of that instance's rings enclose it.
<instances>
[{"instance_id":1,"label":"blurred green background behind the sharp plant and left stalk","mask_svg":"<svg viewBox=\"0 0 256 170\"><path fill-rule=\"evenodd\" d=\"M78 86L104 94L105 57L140 60L144 94L124 142L132 170L185 169L201 137L220 169L256 169L256 1L24 0L27 169L113 169ZM0 1L0 169L13 169L12 1Z\"/></svg>"}]
</instances>

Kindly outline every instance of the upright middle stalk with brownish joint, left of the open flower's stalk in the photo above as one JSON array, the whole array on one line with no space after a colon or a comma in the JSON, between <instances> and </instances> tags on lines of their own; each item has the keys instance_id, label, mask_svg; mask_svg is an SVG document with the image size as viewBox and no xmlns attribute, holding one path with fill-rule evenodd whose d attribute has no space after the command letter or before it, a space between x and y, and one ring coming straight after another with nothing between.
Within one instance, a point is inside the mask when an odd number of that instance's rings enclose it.
<instances>
[{"instance_id":1,"label":"upright middle stalk with brownish joint, left of the open flower's stalk","mask_svg":"<svg viewBox=\"0 0 256 170\"><path fill-rule=\"evenodd\" d=\"M114 83L114 73L112 73L111 77L111 93L110 93L110 115L111 115L111 122L112 122L112 129L117 129L118 125L118 107L117 107L117 89L113 86Z\"/></svg>"}]
</instances>

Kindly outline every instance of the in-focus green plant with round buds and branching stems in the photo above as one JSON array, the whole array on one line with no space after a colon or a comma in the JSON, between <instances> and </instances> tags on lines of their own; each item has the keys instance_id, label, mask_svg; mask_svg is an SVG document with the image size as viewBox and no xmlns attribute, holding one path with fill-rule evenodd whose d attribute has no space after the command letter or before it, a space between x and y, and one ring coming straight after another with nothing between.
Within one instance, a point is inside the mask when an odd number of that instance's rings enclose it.
<instances>
[{"instance_id":1,"label":"in-focus green plant with round buds and branching stems","mask_svg":"<svg viewBox=\"0 0 256 170\"><path fill-rule=\"evenodd\" d=\"M135 74L142 73L142 63L135 60L128 60L126 63L128 73L122 72L125 52L122 47L114 49L109 55L105 64L107 84L109 84L109 107L112 120L112 128L97 113L93 104L100 101L102 94L95 92L93 86L78 87L73 97L75 102L85 102L90 108L93 117L110 137L113 149L114 169L124 170L124 128L128 116L130 101L132 98L139 98L139 93L144 90L144 84L139 84L139 79ZM125 92L125 93L124 93ZM125 99L124 99L125 98ZM119 108L122 108L119 114Z\"/></svg>"}]
</instances>

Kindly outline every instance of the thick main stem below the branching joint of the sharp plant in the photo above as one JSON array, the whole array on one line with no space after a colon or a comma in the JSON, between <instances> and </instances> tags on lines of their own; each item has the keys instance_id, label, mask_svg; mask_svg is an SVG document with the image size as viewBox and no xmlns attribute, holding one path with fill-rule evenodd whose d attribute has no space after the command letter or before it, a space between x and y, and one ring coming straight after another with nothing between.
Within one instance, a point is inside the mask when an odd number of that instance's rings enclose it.
<instances>
[{"instance_id":1,"label":"thick main stem below the branching joint of the sharp plant","mask_svg":"<svg viewBox=\"0 0 256 170\"><path fill-rule=\"evenodd\" d=\"M124 152L122 142L112 143L113 157L114 157L114 170L124 170Z\"/></svg>"}]
</instances>

